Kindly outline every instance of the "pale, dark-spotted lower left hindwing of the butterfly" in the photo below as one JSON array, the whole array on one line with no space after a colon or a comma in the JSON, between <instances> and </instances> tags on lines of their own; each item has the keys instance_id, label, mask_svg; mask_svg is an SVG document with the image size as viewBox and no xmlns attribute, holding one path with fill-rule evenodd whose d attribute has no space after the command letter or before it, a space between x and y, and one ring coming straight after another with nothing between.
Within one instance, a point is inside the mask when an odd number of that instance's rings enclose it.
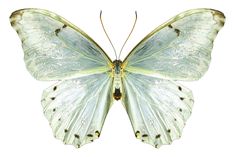
<instances>
[{"instance_id":1,"label":"pale, dark-spotted lower left hindwing of the butterfly","mask_svg":"<svg viewBox=\"0 0 236 157\"><path fill-rule=\"evenodd\" d=\"M42 95L54 136L75 147L100 136L112 101L112 78L107 73L56 83Z\"/></svg>"}]
</instances>

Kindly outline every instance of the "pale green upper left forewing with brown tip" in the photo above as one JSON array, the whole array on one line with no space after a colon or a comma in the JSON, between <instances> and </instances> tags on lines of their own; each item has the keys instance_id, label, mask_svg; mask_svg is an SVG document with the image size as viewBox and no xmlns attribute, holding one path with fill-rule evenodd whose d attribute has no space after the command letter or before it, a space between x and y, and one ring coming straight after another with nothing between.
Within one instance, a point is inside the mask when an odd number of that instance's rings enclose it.
<instances>
[{"instance_id":1,"label":"pale green upper left forewing with brown tip","mask_svg":"<svg viewBox=\"0 0 236 157\"><path fill-rule=\"evenodd\" d=\"M12 13L29 72L38 80L61 80L110 70L111 60L87 34L50 11Z\"/></svg>"}]
</instances>

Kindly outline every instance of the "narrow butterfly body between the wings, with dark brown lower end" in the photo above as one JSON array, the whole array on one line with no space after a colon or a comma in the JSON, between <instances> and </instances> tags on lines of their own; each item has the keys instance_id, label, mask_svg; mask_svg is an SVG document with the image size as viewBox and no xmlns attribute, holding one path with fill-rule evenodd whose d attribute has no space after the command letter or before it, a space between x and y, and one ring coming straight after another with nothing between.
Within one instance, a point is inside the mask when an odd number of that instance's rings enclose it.
<instances>
[{"instance_id":1,"label":"narrow butterfly body between the wings, with dark brown lower end","mask_svg":"<svg viewBox=\"0 0 236 157\"><path fill-rule=\"evenodd\" d=\"M122 96L121 77L122 77L122 61L114 60L112 69L112 76L114 77L113 97L115 100L120 100Z\"/></svg>"}]
</instances>

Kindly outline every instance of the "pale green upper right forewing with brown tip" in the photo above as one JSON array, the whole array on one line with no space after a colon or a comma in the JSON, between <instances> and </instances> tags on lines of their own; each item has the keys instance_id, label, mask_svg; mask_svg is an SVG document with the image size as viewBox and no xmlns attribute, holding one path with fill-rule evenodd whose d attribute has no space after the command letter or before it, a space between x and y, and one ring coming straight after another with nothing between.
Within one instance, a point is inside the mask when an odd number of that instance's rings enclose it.
<instances>
[{"instance_id":1,"label":"pale green upper right forewing with brown tip","mask_svg":"<svg viewBox=\"0 0 236 157\"><path fill-rule=\"evenodd\" d=\"M148 34L126 57L124 69L164 79L197 80L209 67L224 14L212 9L183 12Z\"/></svg>"}]
</instances>

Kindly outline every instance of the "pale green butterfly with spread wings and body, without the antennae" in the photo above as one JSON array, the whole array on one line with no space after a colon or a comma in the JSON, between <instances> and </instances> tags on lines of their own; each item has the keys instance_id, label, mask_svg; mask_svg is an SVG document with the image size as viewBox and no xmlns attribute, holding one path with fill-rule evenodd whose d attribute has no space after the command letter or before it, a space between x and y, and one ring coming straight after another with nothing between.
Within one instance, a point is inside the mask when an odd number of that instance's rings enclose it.
<instances>
[{"instance_id":1,"label":"pale green butterfly with spread wings and body, without the antennae","mask_svg":"<svg viewBox=\"0 0 236 157\"><path fill-rule=\"evenodd\" d=\"M58 81L41 103L53 134L81 147L99 138L114 100L121 100L135 137L159 148L181 137L193 94L177 81L200 79L225 16L213 9L178 14L141 40L121 61L112 61L85 32L42 9L10 16L30 74Z\"/></svg>"}]
</instances>

